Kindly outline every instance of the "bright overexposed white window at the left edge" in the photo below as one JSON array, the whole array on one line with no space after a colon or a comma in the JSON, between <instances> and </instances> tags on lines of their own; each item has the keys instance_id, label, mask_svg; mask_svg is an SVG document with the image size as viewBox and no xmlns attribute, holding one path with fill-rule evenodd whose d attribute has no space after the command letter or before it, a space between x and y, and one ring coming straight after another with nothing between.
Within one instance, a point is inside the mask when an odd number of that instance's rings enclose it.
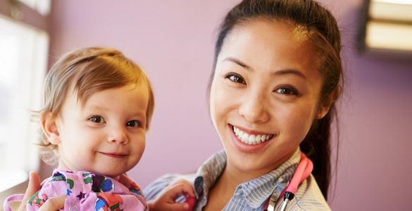
<instances>
[{"instance_id":1,"label":"bright overexposed white window at the left edge","mask_svg":"<svg viewBox=\"0 0 412 211\"><path fill-rule=\"evenodd\" d=\"M0 46L1 192L25 181L28 171L38 171L39 129L30 110L42 103L49 36L0 14Z\"/></svg>"}]
</instances>

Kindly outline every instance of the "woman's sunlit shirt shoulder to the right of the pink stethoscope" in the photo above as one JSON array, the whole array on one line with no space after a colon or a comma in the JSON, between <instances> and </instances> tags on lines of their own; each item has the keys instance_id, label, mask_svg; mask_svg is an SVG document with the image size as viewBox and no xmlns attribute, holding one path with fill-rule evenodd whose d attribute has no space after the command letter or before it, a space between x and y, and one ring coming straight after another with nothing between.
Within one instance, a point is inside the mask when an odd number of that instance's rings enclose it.
<instances>
[{"instance_id":1,"label":"woman's sunlit shirt shoulder to the right of the pink stethoscope","mask_svg":"<svg viewBox=\"0 0 412 211\"><path fill-rule=\"evenodd\" d=\"M312 175L299 185L295 198L292 210L330 210Z\"/></svg>"}]
</instances>

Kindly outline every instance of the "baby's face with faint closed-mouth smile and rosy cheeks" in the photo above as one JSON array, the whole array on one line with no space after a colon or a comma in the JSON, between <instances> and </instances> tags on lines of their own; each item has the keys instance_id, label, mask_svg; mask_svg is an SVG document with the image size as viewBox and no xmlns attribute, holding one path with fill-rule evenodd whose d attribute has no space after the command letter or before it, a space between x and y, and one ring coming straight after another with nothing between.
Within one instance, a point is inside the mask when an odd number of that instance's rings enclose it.
<instances>
[{"instance_id":1,"label":"baby's face with faint closed-mouth smile and rosy cheeks","mask_svg":"<svg viewBox=\"0 0 412 211\"><path fill-rule=\"evenodd\" d=\"M117 177L135 167L145 146L148 101L143 83L96 92L84 106L69 93L56 119L58 168Z\"/></svg>"}]
</instances>

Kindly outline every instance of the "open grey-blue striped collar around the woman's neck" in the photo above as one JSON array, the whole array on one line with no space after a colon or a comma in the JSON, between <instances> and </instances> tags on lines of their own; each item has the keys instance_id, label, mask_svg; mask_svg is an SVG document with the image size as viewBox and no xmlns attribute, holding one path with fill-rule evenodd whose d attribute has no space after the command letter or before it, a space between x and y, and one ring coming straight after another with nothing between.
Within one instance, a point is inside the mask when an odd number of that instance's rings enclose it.
<instances>
[{"instance_id":1,"label":"open grey-blue striped collar around the woman's neck","mask_svg":"<svg viewBox=\"0 0 412 211\"><path fill-rule=\"evenodd\" d=\"M300 158L301 155L298 148L288 160L283 162L282 165L275 170L256 179L239 184L234 195L244 197L249 206L253 208L261 207L272 195L278 198L287 186L287 181L292 179ZM218 179L225 169L226 159L225 151L220 151L206 160L196 173L196 178L194 179L196 197L199 198L199 196L202 196L202 201L204 201L205 204L209 188L215 184L216 179Z\"/></svg>"}]
</instances>

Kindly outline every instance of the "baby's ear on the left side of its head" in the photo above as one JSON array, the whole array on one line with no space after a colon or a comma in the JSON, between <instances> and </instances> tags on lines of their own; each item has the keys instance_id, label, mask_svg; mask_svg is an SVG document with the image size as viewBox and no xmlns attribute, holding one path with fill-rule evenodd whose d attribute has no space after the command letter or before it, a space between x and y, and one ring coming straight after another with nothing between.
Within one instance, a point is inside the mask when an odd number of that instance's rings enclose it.
<instances>
[{"instance_id":1,"label":"baby's ear on the left side of its head","mask_svg":"<svg viewBox=\"0 0 412 211\"><path fill-rule=\"evenodd\" d=\"M49 111L42 113L42 130L44 136L53 145L61 143L60 134L58 133L58 127L56 124L56 117Z\"/></svg>"}]
</instances>

